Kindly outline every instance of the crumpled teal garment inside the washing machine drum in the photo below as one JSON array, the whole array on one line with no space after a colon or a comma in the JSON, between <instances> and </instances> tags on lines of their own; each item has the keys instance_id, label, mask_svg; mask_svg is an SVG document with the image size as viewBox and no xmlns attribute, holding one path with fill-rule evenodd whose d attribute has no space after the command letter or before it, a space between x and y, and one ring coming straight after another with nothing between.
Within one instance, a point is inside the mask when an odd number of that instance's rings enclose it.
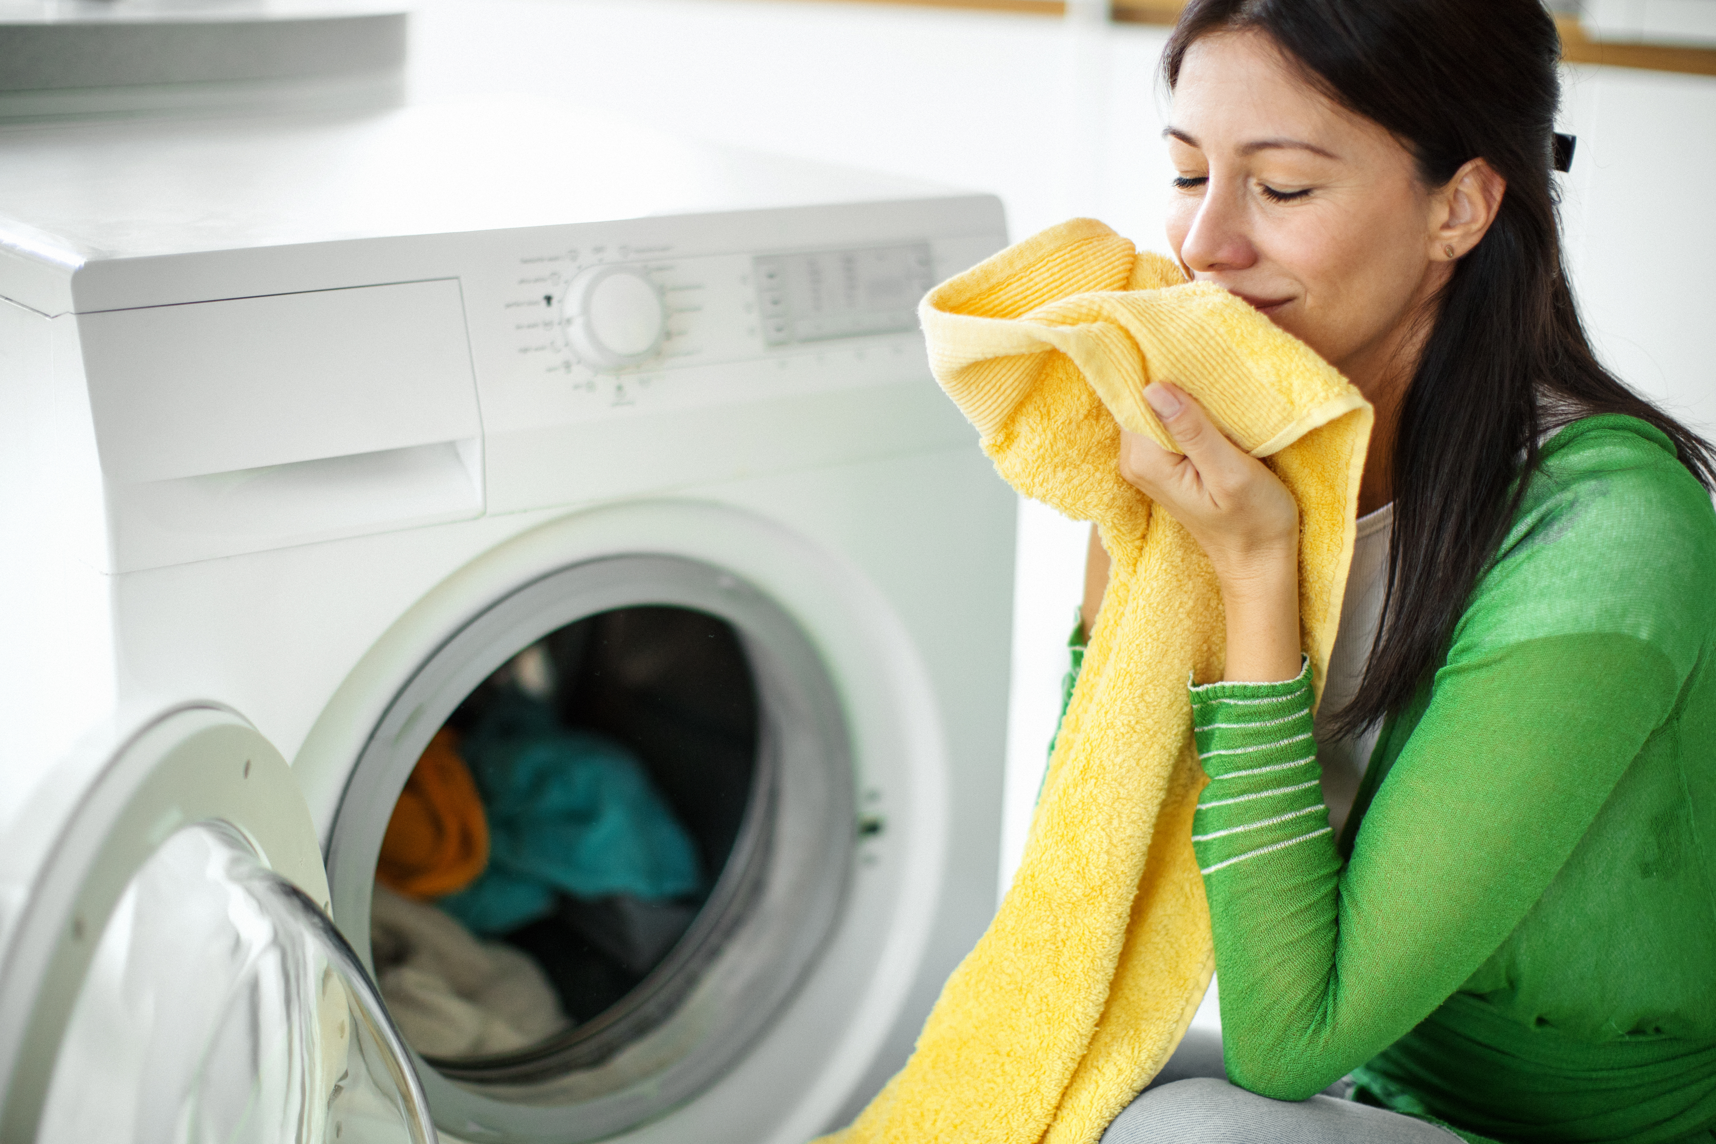
<instances>
[{"instance_id":1,"label":"crumpled teal garment inside the washing machine drum","mask_svg":"<svg viewBox=\"0 0 1716 1144\"><path fill-rule=\"evenodd\" d=\"M544 918L558 894L649 902L702 887L685 827L613 739L566 731L546 705L503 693L460 753L489 816L489 864L436 904L472 931Z\"/></svg>"}]
</instances>

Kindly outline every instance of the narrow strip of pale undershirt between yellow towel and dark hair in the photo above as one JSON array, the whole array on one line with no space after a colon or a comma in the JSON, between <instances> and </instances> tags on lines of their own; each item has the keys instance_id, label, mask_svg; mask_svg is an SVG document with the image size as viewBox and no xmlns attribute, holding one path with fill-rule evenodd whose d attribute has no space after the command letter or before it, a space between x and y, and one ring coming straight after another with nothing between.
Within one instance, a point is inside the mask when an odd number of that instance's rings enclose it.
<instances>
[{"instance_id":1,"label":"narrow strip of pale undershirt between yellow towel and dark hair","mask_svg":"<svg viewBox=\"0 0 1716 1144\"><path fill-rule=\"evenodd\" d=\"M1352 544L1352 568L1347 571L1347 593L1340 602L1340 631L1335 650L1328 655L1328 679L1323 684L1323 701L1316 708L1316 756L1323 765L1323 801L1328 804L1328 825L1340 837L1340 828L1352 811L1352 798L1371 762L1371 750L1381 722L1366 727L1357 738L1337 739L1323 731L1328 717L1345 707L1359 691L1364 660L1376 640L1376 624L1383 614L1383 592L1388 587L1388 537L1393 533L1393 504L1383 504L1375 513L1359 518L1359 535Z\"/></svg>"}]
</instances>

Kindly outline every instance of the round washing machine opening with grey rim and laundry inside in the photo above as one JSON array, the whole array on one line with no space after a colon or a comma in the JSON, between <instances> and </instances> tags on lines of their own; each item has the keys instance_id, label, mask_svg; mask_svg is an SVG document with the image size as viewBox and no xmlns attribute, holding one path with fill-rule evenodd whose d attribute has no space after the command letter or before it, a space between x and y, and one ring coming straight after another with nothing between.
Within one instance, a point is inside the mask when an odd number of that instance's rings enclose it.
<instances>
[{"instance_id":1,"label":"round washing machine opening with grey rim and laundry inside","mask_svg":"<svg viewBox=\"0 0 1716 1144\"><path fill-rule=\"evenodd\" d=\"M841 705L722 569L585 561L496 599L379 720L336 813L333 916L436 1122L601 1141L752 1050L834 928Z\"/></svg>"}]
</instances>

